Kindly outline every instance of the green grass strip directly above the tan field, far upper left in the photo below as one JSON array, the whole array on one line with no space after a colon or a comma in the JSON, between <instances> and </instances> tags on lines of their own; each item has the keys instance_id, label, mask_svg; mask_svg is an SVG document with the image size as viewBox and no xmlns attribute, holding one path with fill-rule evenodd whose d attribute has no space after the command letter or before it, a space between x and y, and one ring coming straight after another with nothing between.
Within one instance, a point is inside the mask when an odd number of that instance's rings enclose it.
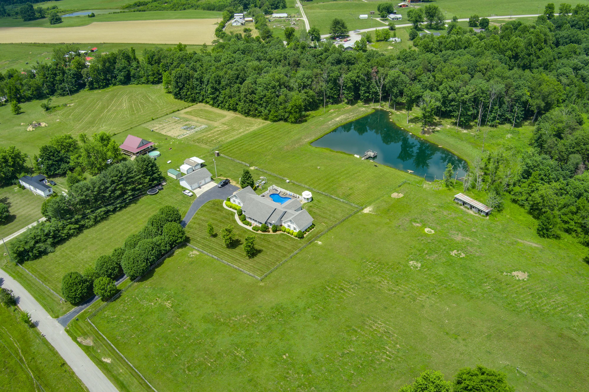
<instances>
[{"instance_id":1,"label":"green grass strip directly above the tan field, far upper left","mask_svg":"<svg viewBox=\"0 0 589 392\"><path fill-rule=\"evenodd\" d=\"M35 19L34 21L27 22L23 21L21 18L0 18L0 27L44 27L59 29L67 27L87 26L97 22L157 21L164 19L219 19L220 21L221 18L223 18L221 12L202 11L200 9L188 9L186 11L145 12L120 12L120 10L118 9L112 9L107 11L109 12L95 12L94 18L88 18L87 15L67 16L65 18L62 18L62 22L57 25L49 24L49 18ZM198 23L198 21L194 22Z\"/></svg>"}]
</instances>

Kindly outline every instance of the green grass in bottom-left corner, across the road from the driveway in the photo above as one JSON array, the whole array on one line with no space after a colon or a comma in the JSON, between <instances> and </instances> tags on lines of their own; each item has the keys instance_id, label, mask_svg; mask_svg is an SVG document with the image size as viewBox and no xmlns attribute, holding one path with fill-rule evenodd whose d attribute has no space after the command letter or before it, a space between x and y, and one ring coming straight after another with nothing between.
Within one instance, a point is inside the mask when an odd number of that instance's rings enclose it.
<instances>
[{"instance_id":1,"label":"green grass in bottom-left corner, across the road from the driveway","mask_svg":"<svg viewBox=\"0 0 589 392\"><path fill-rule=\"evenodd\" d=\"M0 306L0 358L4 391L36 392L39 384L45 391L87 391L47 339L18 320L14 308L4 306Z\"/></svg>"}]
</instances>

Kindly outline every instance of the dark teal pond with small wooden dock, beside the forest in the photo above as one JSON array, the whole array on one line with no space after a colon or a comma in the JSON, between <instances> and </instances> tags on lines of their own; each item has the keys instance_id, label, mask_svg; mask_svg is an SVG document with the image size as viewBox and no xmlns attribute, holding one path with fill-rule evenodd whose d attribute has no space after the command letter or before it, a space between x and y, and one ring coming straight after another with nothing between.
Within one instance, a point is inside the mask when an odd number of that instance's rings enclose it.
<instances>
[{"instance_id":1,"label":"dark teal pond with small wooden dock, beside the forest","mask_svg":"<svg viewBox=\"0 0 589 392\"><path fill-rule=\"evenodd\" d=\"M431 181L442 178L446 165L454 165L458 177L465 175L468 164L448 150L416 137L389 120L389 113L376 110L372 114L342 125L311 145L327 147L348 154L364 155L378 152L375 163L407 171Z\"/></svg>"}]
</instances>

